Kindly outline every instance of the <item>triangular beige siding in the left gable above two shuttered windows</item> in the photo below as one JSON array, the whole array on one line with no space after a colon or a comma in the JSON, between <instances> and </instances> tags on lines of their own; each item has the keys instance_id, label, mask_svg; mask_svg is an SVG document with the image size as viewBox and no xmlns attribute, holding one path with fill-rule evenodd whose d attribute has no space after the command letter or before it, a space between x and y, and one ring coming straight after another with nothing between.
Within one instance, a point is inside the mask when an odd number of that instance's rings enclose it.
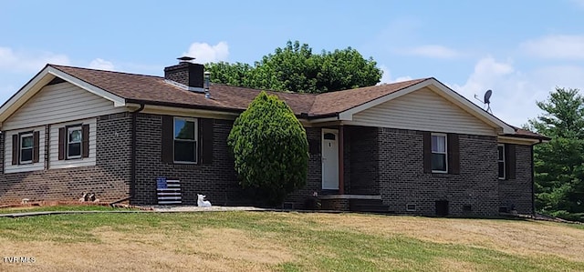
<instances>
[{"instance_id":1,"label":"triangular beige siding in the left gable above two shuttered windows","mask_svg":"<svg viewBox=\"0 0 584 272\"><path fill-rule=\"evenodd\" d=\"M127 111L68 82L43 87L4 124L3 130L44 126Z\"/></svg>"}]
</instances>

